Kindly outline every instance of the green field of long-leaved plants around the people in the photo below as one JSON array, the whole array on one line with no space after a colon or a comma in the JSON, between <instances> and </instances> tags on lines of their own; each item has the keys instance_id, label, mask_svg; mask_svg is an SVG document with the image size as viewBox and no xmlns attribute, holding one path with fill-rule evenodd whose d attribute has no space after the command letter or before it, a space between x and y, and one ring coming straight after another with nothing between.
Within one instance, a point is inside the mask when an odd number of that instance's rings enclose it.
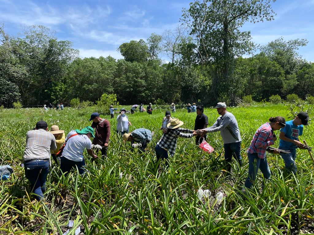
<instances>
[{"instance_id":1,"label":"green field of long-leaved plants around the people","mask_svg":"<svg viewBox=\"0 0 314 235\"><path fill-rule=\"evenodd\" d=\"M198 149L194 138L179 138L170 167L156 168L154 147L162 134L159 127L165 113L158 108L153 115L128 114L131 131L154 131L145 154L131 152L130 144L123 144L115 133L116 119L109 119L112 134L108 158L91 161L85 154L88 173L83 176L75 172L59 177L59 168L53 166L47 177L44 203L34 201L24 168L19 166L26 132L42 119L48 128L57 124L67 134L90 125L94 110L1 110L1 165L13 166L14 174L0 182L0 234L63 234L69 220L74 220L74 226L68 234L75 234L78 226L80 234L314 233L313 162L306 150L297 151L296 177L284 178L283 160L279 155L268 154L270 182L262 190L259 172L252 191L248 195L241 193L248 170L246 149L253 134L269 117L289 120L287 107L259 104L227 110L239 124L244 163L239 169L233 161L231 177L224 176L220 133L208 135L208 143L215 149L210 155ZM210 124L218 117L215 109L206 108L204 113ZM183 128L194 127L196 113L180 109L173 116L184 122ZM313 133L313 126L307 126L300 139L313 146ZM211 195L200 200L199 189L208 189ZM221 203L216 200L219 192L224 195Z\"/></svg>"}]
</instances>

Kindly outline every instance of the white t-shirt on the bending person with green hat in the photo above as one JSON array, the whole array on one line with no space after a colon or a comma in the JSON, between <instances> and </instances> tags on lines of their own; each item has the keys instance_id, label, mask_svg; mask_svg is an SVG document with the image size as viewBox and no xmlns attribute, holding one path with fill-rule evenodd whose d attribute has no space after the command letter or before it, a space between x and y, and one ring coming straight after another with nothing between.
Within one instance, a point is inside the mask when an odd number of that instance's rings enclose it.
<instances>
[{"instance_id":1,"label":"white t-shirt on the bending person with green hat","mask_svg":"<svg viewBox=\"0 0 314 235\"><path fill-rule=\"evenodd\" d=\"M76 131L74 130L70 131L65 141L67 141L68 138L75 133ZM62 156L75 162L81 162L83 161L83 152L85 148L92 148L92 142L87 135L75 135L67 141L63 149Z\"/></svg>"}]
</instances>

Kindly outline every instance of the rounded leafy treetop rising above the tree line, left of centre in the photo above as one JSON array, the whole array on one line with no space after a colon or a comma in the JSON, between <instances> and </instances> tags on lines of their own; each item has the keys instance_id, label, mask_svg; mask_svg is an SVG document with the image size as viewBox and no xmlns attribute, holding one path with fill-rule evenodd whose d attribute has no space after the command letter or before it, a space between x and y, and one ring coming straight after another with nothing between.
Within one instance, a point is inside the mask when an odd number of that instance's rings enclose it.
<instances>
[{"instance_id":1,"label":"rounded leafy treetop rising above the tree line, left of centre","mask_svg":"<svg viewBox=\"0 0 314 235\"><path fill-rule=\"evenodd\" d=\"M125 42L117 49L126 61L129 62L145 62L149 57L148 46L143 39L139 41L132 40Z\"/></svg>"}]
</instances>

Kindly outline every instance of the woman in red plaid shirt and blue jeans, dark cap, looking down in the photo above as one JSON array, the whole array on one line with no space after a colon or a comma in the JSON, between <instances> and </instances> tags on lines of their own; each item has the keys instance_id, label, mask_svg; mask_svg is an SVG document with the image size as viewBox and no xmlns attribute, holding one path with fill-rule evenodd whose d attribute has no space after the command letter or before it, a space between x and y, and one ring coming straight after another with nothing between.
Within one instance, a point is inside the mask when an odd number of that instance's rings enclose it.
<instances>
[{"instance_id":1,"label":"woman in red plaid shirt and blue jeans, dark cap, looking down","mask_svg":"<svg viewBox=\"0 0 314 235\"><path fill-rule=\"evenodd\" d=\"M273 131L279 130L285 126L283 117L269 118L269 123L264 123L255 132L250 147L247 149L247 157L249 159L249 174L244 183L246 188L251 188L260 169L264 178L270 179L270 170L266 159L266 149L273 145L277 137ZM278 153L278 152L274 152ZM245 191L245 189L243 189Z\"/></svg>"}]
</instances>

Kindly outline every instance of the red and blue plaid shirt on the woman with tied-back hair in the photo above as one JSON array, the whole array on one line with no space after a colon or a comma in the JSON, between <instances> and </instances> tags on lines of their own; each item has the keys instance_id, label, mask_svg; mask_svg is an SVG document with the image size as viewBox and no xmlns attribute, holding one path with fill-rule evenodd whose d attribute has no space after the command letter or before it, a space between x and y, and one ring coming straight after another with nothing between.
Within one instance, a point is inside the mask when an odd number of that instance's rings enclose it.
<instances>
[{"instance_id":1,"label":"red and blue plaid shirt on the woman with tied-back hair","mask_svg":"<svg viewBox=\"0 0 314 235\"><path fill-rule=\"evenodd\" d=\"M264 123L255 132L247 152L250 154L257 153L259 158L264 159L267 147L274 144L273 138L273 130L270 124Z\"/></svg>"}]
</instances>

